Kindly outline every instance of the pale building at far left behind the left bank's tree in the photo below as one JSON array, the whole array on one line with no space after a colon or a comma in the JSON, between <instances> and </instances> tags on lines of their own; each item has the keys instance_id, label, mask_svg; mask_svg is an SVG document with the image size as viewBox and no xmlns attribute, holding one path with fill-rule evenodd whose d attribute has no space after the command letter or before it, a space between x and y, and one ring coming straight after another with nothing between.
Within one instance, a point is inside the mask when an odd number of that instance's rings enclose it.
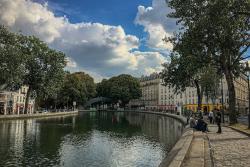
<instances>
[{"instance_id":1,"label":"pale building at far left behind the left bank's tree","mask_svg":"<svg viewBox=\"0 0 250 167\"><path fill-rule=\"evenodd\" d=\"M17 91L0 91L0 114L23 114L28 87L22 86ZM28 114L34 113L35 100L30 98Z\"/></svg>"}]
</instances>

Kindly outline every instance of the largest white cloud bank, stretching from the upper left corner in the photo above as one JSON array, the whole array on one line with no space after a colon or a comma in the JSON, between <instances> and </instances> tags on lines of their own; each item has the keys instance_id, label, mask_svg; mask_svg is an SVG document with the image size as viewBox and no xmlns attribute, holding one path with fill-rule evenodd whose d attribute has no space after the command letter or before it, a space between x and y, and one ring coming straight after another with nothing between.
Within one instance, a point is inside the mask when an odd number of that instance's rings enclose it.
<instances>
[{"instance_id":1,"label":"largest white cloud bank, stretching from the upper left corner","mask_svg":"<svg viewBox=\"0 0 250 167\"><path fill-rule=\"evenodd\" d=\"M66 53L68 69L85 70L99 79L119 73L142 75L158 71L165 61L158 52L134 51L138 50L139 39L126 34L121 26L84 22L72 24L66 17L55 16L47 4L30 0L1 0L0 24L13 31L39 37L51 47ZM147 28L151 34L165 31L163 27ZM152 44L158 40L156 36L151 39ZM157 46L162 47L162 44Z\"/></svg>"}]
</instances>

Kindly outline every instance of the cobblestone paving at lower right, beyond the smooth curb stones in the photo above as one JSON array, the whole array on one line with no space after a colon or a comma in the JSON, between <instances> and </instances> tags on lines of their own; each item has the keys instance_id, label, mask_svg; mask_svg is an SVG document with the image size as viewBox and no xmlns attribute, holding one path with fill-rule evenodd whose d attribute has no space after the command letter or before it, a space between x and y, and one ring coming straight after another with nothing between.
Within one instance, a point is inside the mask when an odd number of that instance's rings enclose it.
<instances>
[{"instance_id":1,"label":"cobblestone paving at lower right, beyond the smooth curb stones","mask_svg":"<svg viewBox=\"0 0 250 167\"><path fill-rule=\"evenodd\" d=\"M250 138L235 130L209 125L207 133L211 144L211 153L215 167L250 167Z\"/></svg>"}]
</instances>

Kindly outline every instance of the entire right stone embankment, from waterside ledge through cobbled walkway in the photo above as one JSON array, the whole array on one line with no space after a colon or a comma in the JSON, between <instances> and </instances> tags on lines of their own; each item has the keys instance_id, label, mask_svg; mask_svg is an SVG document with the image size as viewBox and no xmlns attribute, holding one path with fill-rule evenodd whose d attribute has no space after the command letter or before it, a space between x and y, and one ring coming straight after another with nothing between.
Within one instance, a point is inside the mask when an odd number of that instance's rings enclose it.
<instances>
[{"instance_id":1,"label":"entire right stone embankment, from waterside ledge through cobbled walkway","mask_svg":"<svg viewBox=\"0 0 250 167\"><path fill-rule=\"evenodd\" d=\"M229 127L218 134L216 125L209 132L186 129L161 163L161 167L250 167L250 138Z\"/></svg>"}]
</instances>

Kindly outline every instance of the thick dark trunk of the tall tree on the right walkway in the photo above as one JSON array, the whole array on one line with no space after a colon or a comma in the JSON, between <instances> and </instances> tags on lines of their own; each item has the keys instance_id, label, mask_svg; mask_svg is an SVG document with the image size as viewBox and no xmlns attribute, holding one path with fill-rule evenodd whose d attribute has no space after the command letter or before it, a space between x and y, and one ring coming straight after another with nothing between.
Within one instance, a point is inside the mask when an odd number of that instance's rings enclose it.
<instances>
[{"instance_id":1,"label":"thick dark trunk of the tall tree on the right walkway","mask_svg":"<svg viewBox=\"0 0 250 167\"><path fill-rule=\"evenodd\" d=\"M225 68L225 77L227 81L227 87L229 92L229 121L230 124L237 123L236 111L235 111L235 88L232 72L229 68Z\"/></svg>"}]
</instances>

